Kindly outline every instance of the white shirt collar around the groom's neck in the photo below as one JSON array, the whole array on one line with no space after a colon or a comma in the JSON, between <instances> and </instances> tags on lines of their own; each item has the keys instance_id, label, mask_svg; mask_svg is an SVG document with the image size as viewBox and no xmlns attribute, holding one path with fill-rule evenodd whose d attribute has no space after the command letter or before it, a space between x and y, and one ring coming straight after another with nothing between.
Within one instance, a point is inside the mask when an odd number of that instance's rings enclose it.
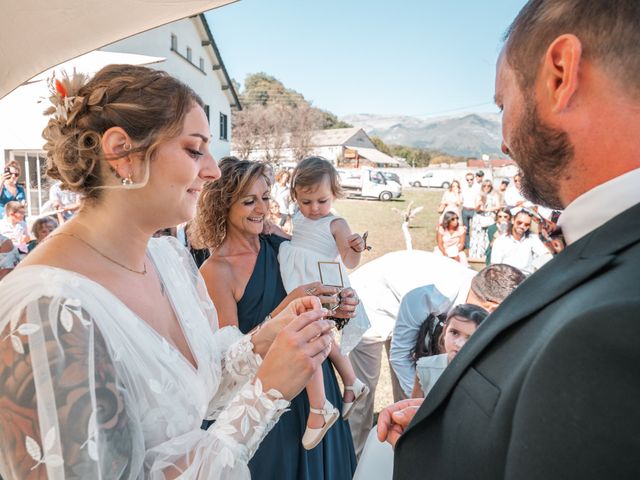
<instances>
[{"instance_id":1,"label":"white shirt collar around the groom's neck","mask_svg":"<svg viewBox=\"0 0 640 480\"><path fill-rule=\"evenodd\" d=\"M567 245L640 203L640 168L583 193L564 210L558 225Z\"/></svg>"}]
</instances>

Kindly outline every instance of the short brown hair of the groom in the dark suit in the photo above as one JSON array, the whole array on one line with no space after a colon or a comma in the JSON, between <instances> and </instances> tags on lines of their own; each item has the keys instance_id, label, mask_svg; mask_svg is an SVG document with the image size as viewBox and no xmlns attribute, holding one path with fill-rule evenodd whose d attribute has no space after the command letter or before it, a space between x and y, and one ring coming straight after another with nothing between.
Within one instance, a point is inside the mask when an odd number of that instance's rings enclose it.
<instances>
[{"instance_id":1,"label":"short brown hair of the groom in the dark suit","mask_svg":"<svg viewBox=\"0 0 640 480\"><path fill-rule=\"evenodd\" d=\"M638 19L638 0L529 0L505 35L506 61L520 88L529 90L551 42L570 33L580 39L584 58L614 72L640 96Z\"/></svg>"}]
</instances>

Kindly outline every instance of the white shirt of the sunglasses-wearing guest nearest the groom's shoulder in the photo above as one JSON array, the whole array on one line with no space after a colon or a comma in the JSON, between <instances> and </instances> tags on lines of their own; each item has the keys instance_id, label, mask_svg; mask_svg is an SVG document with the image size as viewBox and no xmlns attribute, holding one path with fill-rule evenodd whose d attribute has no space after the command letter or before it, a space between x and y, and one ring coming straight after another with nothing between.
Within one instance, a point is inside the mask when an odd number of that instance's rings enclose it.
<instances>
[{"instance_id":1,"label":"white shirt of the sunglasses-wearing guest nearest the groom's shoulder","mask_svg":"<svg viewBox=\"0 0 640 480\"><path fill-rule=\"evenodd\" d=\"M501 235L495 239L491 249L491 263L506 263L525 275L531 275L551 258L549 249L533 233L520 240L511 235Z\"/></svg>"}]
</instances>

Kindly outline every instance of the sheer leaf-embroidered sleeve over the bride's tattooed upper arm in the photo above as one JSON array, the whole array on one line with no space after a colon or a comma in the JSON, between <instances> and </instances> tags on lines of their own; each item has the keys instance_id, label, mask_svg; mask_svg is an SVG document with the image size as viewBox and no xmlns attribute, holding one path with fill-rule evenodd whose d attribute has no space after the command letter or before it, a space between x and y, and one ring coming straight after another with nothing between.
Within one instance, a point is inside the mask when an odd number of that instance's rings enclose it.
<instances>
[{"instance_id":1,"label":"sheer leaf-embroidered sleeve over the bride's tattooed upper arm","mask_svg":"<svg viewBox=\"0 0 640 480\"><path fill-rule=\"evenodd\" d=\"M135 478L143 439L79 302L40 298L9 317L0 336L0 474Z\"/></svg>"}]
</instances>

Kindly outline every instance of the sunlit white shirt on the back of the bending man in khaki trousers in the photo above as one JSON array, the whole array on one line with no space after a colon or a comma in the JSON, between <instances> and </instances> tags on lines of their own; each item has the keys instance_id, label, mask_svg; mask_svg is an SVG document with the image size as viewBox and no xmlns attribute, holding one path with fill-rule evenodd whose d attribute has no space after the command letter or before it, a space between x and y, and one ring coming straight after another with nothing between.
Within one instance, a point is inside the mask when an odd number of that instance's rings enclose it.
<instances>
[{"instance_id":1,"label":"sunlit white shirt on the back of the bending man in khaki trousers","mask_svg":"<svg viewBox=\"0 0 640 480\"><path fill-rule=\"evenodd\" d=\"M402 297L424 285L457 284L464 274L473 276L475 272L455 260L422 250L391 252L365 263L349 275L371 322L363 337L386 341L395 326Z\"/></svg>"}]
</instances>

